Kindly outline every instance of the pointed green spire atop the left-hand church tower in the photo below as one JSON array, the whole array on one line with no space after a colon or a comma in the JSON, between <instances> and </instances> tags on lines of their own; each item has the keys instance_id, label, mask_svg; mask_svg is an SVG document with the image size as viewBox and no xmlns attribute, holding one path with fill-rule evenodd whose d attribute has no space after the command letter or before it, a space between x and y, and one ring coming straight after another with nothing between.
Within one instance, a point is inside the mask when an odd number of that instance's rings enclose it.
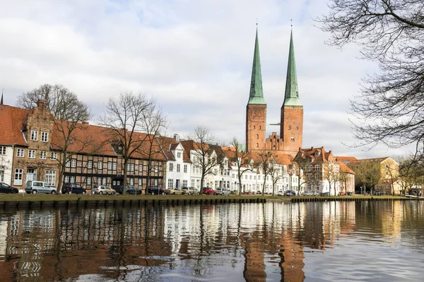
<instances>
[{"instance_id":1,"label":"pointed green spire atop the left-hand church tower","mask_svg":"<svg viewBox=\"0 0 424 282\"><path fill-rule=\"evenodd\" d=\"M258 29L254 42L254 55L252 66L252 81L250 82L250 96L247 104L266 104L262 90L261 58L259 57Z\"/></svg>"}]
</instances>

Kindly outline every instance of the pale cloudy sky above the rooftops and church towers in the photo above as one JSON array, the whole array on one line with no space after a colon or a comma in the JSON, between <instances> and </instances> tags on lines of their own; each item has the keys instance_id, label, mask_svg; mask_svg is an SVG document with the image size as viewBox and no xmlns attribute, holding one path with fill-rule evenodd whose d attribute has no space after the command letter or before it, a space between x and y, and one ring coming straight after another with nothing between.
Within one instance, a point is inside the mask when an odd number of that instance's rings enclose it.
<instances>
[{"instance_id":1,"label":"pale cloudy sky above the rooftops and church towers","mask_svg":"<svg viewBox=\"0 0 424 282\"><path fill-rule=\"evenodd\" d=\"M204 125L223 142L245 142L255 32L267 123L280 120L290 20L304 106L303 147L336 156L395 157L411 148L352 147L350 100L378 71L359 47L325 44L314 21L326 0L0 0L4 104L42 84L61 84L90 106L95 123L121 92L155 97L167 135ZM257 25L258 23L258 25ZM279 131L267 125L266 135Z\"/></svg>"}]
</instances>

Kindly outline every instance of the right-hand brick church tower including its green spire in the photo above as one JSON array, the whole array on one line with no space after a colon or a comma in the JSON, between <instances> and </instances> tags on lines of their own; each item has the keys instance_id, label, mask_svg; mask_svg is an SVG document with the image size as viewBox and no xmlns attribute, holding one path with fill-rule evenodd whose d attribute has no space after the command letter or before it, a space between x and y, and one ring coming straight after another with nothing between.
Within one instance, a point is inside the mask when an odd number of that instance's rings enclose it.
<instances>
[{"instance_id":1,"label":"right-hand brick church tower including its green spire","mask_svg":"<svg viewBox=\"0 0 424 282\"><path fill-rule=\"evenodd\" d=\"M287 78L285 79L285 97L281 106L280 137L284 151L295 154L302 147L303 105L300 103L298 78L296 77L295 49L293 32L290 32L290 49L288 53Z\"/></svg>"}]
</instances>

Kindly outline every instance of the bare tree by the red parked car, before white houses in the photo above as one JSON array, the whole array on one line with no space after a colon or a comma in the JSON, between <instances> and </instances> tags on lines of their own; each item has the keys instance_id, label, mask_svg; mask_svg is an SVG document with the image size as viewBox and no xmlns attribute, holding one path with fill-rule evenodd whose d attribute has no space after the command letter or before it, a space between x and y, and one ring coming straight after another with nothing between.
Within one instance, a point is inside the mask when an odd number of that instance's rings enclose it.
<instances>
[{"instance_id":1,"label":"bare tree by the red parked car, before white houses","mask_svg":"<svg viewBox=\"0 0 424 282\"><path fill-rule=\"evenodd\" d=\"M193 165L201 169L201 188L204 187L204 179L208 174L215 175L216 166L223 163L224 156L221 151L213 149L213 144L217 144L215 135L205 126L198 125L194 128L194 133L189 139L194 142Z\"/></svg>"}]
</instances>

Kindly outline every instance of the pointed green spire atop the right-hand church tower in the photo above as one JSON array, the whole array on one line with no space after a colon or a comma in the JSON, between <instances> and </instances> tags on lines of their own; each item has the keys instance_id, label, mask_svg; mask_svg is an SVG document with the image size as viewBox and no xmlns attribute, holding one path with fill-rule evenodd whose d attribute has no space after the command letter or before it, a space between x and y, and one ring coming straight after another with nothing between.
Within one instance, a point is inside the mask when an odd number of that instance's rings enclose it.
<instances>
[{"instance_id":1,"label":"pointed green spire atop the right-hand church tower","mask_svg":"<svg viewBox=\"0 0 424 282\"><path fill-rule=\"evenodd\" d=\"M302 106L299 99L298 78L296 76L295 47L293 32L290 32L290 51L288 53L287 78L285 79L284 105Z\"/></svg>"}]
</instances>

